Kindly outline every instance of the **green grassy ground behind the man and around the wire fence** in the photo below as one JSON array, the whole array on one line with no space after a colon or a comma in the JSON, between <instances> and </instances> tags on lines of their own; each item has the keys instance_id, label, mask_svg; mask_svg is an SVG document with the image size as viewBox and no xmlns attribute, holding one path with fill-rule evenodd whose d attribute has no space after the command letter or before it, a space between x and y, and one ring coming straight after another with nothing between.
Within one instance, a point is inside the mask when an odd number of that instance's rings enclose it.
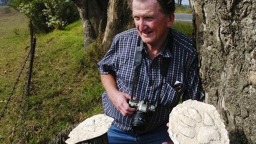
<instances>
[{"instance_id":1,"label":"green grassy ground behind the man and around the wire fence","mask_svg":"<svg viewBox=\"0 0 256 144\"><path fill-rule=\"evenodd\" d=\"M192 25L175 22L173 28L191 36ZM77 122L102 113L100 83L96 63L104 55L101 42L83 51L81 21L36 34L31 96L26 98L24 120L19 110L26 71L20 77L4 118L0 121L0 144L9 144L17 119L15 143L45 144ZM0 107L7 103L20 69L30 51L28 19L14 9L0 7ZM24 102L24 100L22 101ZM20 122L24 122L21 126Z\"/></svg>"}]
</instances>

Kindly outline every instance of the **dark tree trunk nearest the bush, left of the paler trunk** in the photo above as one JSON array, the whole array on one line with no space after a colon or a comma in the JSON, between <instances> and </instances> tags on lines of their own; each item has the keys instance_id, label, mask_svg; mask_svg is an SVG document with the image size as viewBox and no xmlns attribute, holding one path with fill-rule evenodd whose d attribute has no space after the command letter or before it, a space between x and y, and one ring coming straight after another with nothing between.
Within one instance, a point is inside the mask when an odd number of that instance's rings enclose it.
<instances>
[{"instance_id":1,"label":"dark tree trunk nearest the bush, left of the paler trunk","mask_svg":"<svg viewBox=\"0 0 256 144\"><path fill-rule=\"evenodd\" d=\"M107 24L108 0L72 0L79 11L83 25L83 43L86 48L100 37Z\"/></svg>"}]
</instances>

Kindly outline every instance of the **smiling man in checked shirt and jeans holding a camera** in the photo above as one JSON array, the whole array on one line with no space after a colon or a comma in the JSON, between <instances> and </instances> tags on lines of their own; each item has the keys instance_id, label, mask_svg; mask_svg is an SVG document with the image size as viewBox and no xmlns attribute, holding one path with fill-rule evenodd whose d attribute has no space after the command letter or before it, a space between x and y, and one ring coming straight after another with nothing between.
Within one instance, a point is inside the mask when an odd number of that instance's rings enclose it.
<instances>
[{"instance_id":1,"label":"smiling man in checked shirt and jeans holding a camera","mask_svg":"<svg viewBox=\"0 0 256 144\"><path fill-rule=\"evenodd\" d=\"M106 89L104 113L115 119L108 131L109 143L171 144L166 123L180 96L183 101L204 97L197 51L191 39L170 28L174 0L131 4L136 28L116 35L98 63ZM129 100L145 107L129 105Z\"/></svg>"}]
</instances>

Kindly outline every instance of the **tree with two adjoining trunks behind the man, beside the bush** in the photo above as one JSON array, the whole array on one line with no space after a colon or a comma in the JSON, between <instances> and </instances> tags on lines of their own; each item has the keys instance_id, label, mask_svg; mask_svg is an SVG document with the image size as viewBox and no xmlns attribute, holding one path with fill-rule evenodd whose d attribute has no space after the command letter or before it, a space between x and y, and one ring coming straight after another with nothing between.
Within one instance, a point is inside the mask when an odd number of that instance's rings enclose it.
<instances>
[{"instance_id":1,"label":"tree with two adjoining trunks behind the man, beside the bush","mask_svg":"<svg viewBox=\"0 0 256 144\"><path fill-rule=\"evenodd\" d=\"M86 48L91 41L101 38L102 50L109 49L113 37L134 27L130 0L72 0L78 7L83 25L83 43ZM108 16L107 16L107 7ZM107 23L108 21L108 23ZM105 29L106 28L106 29Z\"/></svg>"}]
</instances>

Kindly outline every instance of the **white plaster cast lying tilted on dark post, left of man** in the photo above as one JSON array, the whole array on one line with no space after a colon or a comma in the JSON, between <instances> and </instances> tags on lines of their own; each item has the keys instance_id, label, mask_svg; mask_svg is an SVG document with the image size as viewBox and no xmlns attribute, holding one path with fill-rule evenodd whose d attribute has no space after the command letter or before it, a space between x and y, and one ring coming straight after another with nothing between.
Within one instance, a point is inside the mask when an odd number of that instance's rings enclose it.
<instances>
[{"instance_id":1,"label":"white plaster cast lying tilted on dark post, left of man","mask_svg":"<svg viewBox=\"0 0 256 144\"><path fill-rule=\"evenodd\" d=\"M87 118L69 133L67 144L76 144L85 140L99 137L106 133L113 122L113 118L98 114Z\"/></svg>"}]
</instances>

